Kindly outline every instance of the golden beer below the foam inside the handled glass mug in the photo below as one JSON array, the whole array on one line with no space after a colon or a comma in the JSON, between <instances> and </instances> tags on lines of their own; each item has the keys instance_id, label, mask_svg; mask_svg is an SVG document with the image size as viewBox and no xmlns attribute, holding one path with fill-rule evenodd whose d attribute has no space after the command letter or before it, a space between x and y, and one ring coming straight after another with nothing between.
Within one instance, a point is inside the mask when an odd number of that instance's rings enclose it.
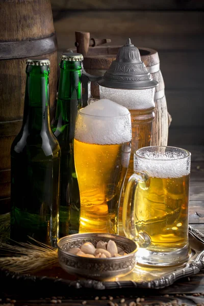
<instances>
[{"instance_id":1,"label":"golden beer below the foam inside the handled glass mug","mask_svg":"<svg viewBox=\"0 0 204 306\"><path fill-rule=\"evenodd\" d=\"M149 177L147 190L138 185L135 213L138 232L148 233L149 249L172 251L188 243L189 175Z\"/></svg>"}]
</instances>

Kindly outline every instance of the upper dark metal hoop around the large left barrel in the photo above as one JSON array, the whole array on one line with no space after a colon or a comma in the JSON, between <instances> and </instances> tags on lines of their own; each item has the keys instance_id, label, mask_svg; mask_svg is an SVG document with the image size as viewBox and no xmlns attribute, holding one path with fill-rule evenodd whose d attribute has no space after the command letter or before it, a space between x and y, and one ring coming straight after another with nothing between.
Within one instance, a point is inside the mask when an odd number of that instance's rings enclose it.
<instances>
[{"instance_id":1,"label":"upper dark metal hoop around the large left barrel","mask_svg":"<svg viewBox=\"0 0 204 306\"><path fill-rule=\"evenodd\" d=\"M51 36L23 41L0 42L0 59L19 59L41 56L57 50L57 37Z\"/></svg>"}]
</instances>

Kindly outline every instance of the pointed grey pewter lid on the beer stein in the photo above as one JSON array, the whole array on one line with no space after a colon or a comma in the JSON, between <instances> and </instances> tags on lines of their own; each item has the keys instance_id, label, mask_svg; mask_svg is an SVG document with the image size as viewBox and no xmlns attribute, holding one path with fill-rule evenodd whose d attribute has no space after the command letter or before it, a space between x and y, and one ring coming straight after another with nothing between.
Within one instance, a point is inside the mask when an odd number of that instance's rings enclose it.
<instances>
[{"instance_id":1,"label":"pointed grey pewter lid on the beer stein","mask_svg":"<svg viewBox=\"0 0 204 306\"><path fill-rule=\"evenodd\" d=\"M158 85L141 61L139 50L130 38L119 48L116 60L97 83L117 89L147 89Z\"/></svg>"}]
</instances>

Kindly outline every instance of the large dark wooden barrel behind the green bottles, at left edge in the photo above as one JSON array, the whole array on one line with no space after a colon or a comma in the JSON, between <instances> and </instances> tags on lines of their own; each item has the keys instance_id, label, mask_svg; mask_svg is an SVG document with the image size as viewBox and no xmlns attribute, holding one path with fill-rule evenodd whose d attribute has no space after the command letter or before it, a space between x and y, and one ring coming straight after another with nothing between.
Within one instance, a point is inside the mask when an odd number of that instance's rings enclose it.
<instances>
[{"instance_id":1,"label":"large dark wooden barrel behind the green bottles, at left edge","mask_svg":"<svg viewBox=\"0 0 204 306\"><path fill-rule=\"evenodd\" d=\"M27 58L50 60L50 112L57 91L57 40L49 0L0 1L0 214L10 210L10 148L23 117Z\"/></svg>"}]
</instances>

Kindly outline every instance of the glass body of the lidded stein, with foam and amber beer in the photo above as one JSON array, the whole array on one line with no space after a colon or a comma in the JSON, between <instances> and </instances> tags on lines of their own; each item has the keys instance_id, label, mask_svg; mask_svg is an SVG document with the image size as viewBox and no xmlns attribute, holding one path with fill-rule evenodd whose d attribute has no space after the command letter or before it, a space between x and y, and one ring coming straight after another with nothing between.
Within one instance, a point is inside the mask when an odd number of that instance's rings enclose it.
<instances>
[{"instance_id":1,"label":"glass body of the lidded stein, with foam and amber beer","mask_svg":"<svg viewBox=\"0 0 204 306\"><path fill-rule=\"evenodd\" d=\"M119 206L119 234L124 235L122 228L122 207L125 188L130 176L134 172L134 152L142 147L150 145L152 121L155 117L155 88L145 90L124 90L99 86L100 98L109 98L112 101L126 107L131 113L132 123L132 148L129 168L125 177L121 192Z\"/></svg>"}]
</instances>

